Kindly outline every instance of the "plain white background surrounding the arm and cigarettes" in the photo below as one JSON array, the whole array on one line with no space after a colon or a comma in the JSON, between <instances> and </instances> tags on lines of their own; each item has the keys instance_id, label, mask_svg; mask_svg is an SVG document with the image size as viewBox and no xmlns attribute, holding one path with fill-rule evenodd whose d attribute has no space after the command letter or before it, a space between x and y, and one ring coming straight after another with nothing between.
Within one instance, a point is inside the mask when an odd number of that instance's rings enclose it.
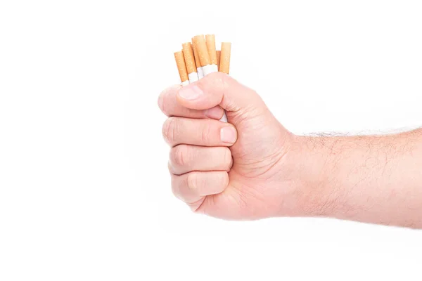
<instances>
[{"instance_id":1,"label":"plain white background surrounding the arm and cigarettes","mask_svg":"<svg viewBox=\"0 0 422 281\"><path fill-rule=\"evenodd\" d=\"M422 123L420 1L1 1L0 280L421 280L422 233L172 195L157 98L198 33L294 133Z\"/></svg>"}]
</instances>

